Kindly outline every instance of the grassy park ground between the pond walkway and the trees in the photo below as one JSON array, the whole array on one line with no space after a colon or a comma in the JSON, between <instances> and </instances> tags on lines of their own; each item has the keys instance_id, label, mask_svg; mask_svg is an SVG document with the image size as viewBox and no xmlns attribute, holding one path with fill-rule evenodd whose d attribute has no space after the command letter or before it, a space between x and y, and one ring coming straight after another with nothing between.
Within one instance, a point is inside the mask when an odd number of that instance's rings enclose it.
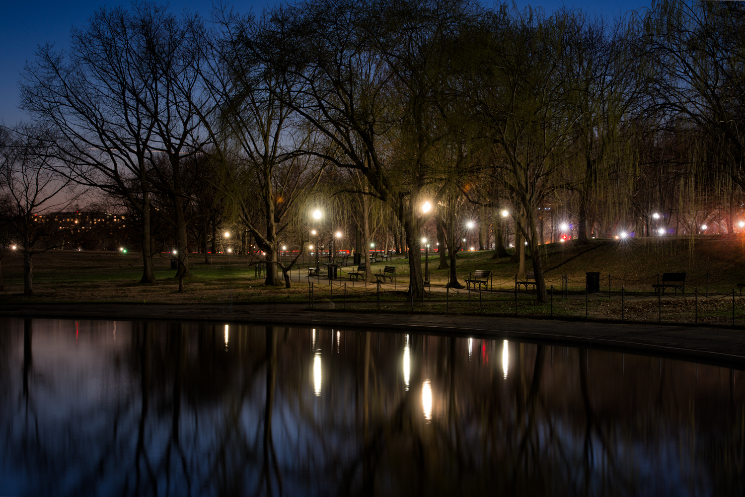
<instances>
[{"instance_id":1,"label":"grassy park ground between the pond walkway and the trees","mask_svg":"<svg viewBox=\"0 0 745 497\"><path fill-rule=\"evenodd\" d=\"M2 260L0 292L3 306L83 304L169 304L246 306L291 305L314 311L450 314L590 320L617 323L674 323L705 326L745 327L745 297L737 284L745 282L745 238L740 235L696 237L597 239L587 245L547 244L545 276L553 297L536 303L535 294L514 292L518 270L510 259L492 259L492 252L462 252L457 257L461 282L477 269L492 271L488 291L445 290L448 270L438 268L439 256L429 253L431 286L423 300L410 300L408 259L375 262L373 273L386 265L396 267L396 283L381 285L349 279L350 266L341 268L341 278L308 278L303 259L291 277L292 288L267 287L261 266L248 256L190 254L191 275L186 292L178 293L171 270L170 254L156 256L157 282L138 283L142 274L139 253L50 250L34 256L34 296L23 292L22 254L6 253ZM422 254L422 264L424 263ZM322 265L323 268L323 265ZM530 258L527 258L530 270ZM586 272L600 273L600 293L585 294ZM685 272L685 296L653 295L658 274ZM561 293L562 275L568 292ZM312 290L311 290L312 283ZM733 294L734 292L734 294ZM379 310L378 310L379 309ZM1 309L0 309L1 311Z\"/></svg>"}]
</instances>

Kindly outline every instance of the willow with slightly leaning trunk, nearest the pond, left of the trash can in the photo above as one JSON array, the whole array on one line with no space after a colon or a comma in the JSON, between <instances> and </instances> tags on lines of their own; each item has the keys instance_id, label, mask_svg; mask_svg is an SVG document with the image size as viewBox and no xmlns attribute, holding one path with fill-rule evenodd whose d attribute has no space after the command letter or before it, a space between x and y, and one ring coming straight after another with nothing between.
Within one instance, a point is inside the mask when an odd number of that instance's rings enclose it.
<instances>
[{"instance_id":1,"label":"willow with slightly leaning trunk, nearest the pond, left of the trash can","mask_svg":"<svg viewBox=\"0 0 745 497\"><path fill-rule=\"evenodd\" d=\"M573 124L581 117L565 51L580 29L568 14L544 18L507 7L463 36L471 68L466 93L492 143L492 174L515 199L530 247L539 302L546 286L539 250L539 206L554 189Z\"/></svg>"}]
</instances>

